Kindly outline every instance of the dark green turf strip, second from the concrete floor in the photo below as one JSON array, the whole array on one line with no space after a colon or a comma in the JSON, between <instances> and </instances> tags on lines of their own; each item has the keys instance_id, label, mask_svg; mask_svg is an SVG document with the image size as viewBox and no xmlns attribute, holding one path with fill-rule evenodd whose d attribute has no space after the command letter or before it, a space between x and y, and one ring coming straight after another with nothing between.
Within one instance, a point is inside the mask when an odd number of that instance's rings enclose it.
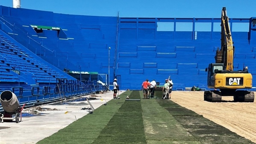
<instances>
[{"instance_id":1,"label":"dark green turf strip, second from the concrete floor","mask_svg":"<svg viewBox=\"0 0 256 144\"><path fill-rule=\"evenodd\" d=\"M140 99L132 91L130 99ZM125 101L92 144L146 144L140 101Z\"/></svg>"}]
</instances>

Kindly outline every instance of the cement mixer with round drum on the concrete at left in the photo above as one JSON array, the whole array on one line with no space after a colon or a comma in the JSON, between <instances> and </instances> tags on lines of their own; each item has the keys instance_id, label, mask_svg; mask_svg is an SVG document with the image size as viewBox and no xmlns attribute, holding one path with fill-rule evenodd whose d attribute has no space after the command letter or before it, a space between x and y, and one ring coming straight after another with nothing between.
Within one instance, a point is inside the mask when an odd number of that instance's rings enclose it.
<instances>
[{"instance_id":1,"label":"cement mixer with round drum on the concrete at left","mask_svg":"<svg viewBox=\"0 0 256 144\"><path fill-rule=\"evenodd\" d=\"M19 114L21 115L22 109L25 104L21 108L18 98L12 91L3 91L0 94L0 103L3 107L3 114L0 114L0 122L12 121L15 119L15 122L19 122ZM12 115L15 115L12 118Z\"/></svg>"}]
</instances>

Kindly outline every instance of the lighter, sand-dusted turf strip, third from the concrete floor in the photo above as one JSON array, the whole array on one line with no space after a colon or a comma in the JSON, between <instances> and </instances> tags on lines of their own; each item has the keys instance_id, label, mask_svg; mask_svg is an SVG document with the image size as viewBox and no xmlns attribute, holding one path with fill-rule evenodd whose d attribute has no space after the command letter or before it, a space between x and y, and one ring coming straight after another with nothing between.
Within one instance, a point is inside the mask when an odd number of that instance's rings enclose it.
<instances>
[{"instance_id":1,"label":"lighter, sand-dusted turf strip, third from the concrete floor","mask_svg":"<svg viewBox=\"0 0 256 144\"><path fill-rule=\"evenodd\" d=\"M141 100L141 107L148 144L200 144L157 100Z\"/></svg>"}]
</instances>

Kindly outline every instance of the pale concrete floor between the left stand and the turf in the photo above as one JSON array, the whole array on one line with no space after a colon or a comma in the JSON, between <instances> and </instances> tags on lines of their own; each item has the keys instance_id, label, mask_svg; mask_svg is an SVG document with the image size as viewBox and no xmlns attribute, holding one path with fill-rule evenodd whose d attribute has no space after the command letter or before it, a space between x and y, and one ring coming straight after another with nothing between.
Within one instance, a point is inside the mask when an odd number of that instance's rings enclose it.
<instances>
[{"instance_id":1,"label":"pale concrete floor between the left stand and the turf","mask_svg":"<svg viewBox=\"0 0 256 144\"><path fill-rule=\"evenodd\" d=\"M119 91L119 94L123 92ZM90 100L94 109L113 99L113 91L95 95L100 97L96 97L98 100ZM15 123L15 121L0 123L0 144L35 144L73 123L76 118L79 119L87 115L88 110L82 110L82 108L88 108L90 105L85 100L71 102L69 105L46 105L40 107L58 110L41 111L41 115L24 116L22 117L22 122L19 123ZM26 109L23 111L26 112ZM67 111L68 113L65 114Z\"/></svg>"}]
</instances>

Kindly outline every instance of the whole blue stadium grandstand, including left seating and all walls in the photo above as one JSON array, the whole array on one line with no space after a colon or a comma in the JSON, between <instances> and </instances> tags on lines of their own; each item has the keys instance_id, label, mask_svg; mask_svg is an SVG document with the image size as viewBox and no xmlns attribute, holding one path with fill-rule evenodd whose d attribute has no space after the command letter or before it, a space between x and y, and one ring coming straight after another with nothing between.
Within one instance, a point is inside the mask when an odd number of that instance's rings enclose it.
<instances>
[{"instance_id":1,"label":"whole blue stadium grandstand, including left seating and all walls","mask_svg":"<svg viewBox=\"0 0 256 144\"><path fill-rule=\"evenodd\" d=\"M121 18L68 15L0 6L0 91L15 92L20 103L59 100L112 89L140 90L145 79L160 85L171 76L174 91L207 88L209 63L221 46L220 18ZM177 30L179 24L191 30ZM197 24L210 31L197 31ZM255 76L256 18L230 18L248 24L232 32L234 70ZM169 26L162 30L162 26ZM219 30L215 30L219 29ZM256 79L253 79L255 88Z\"/></svg>"}]
</instances>

